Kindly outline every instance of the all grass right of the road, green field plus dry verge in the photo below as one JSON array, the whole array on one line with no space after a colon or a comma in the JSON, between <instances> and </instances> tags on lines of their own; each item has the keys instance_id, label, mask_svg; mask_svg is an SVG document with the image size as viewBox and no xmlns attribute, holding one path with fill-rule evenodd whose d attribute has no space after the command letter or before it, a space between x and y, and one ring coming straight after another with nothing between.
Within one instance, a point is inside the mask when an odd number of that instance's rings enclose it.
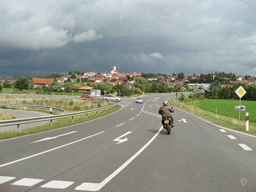
<instances>
[{"instance_id":1,"label":"all grass right of the road, green field plus dry verge","mask_svg":"<svg viewBox=\"0 0 256 192\"><path fill-rule=\"evenodd\" d=\"M176 105L175 99L170 99L171 105L180 108ZM178 102L180 103L180 101ZM210 122L223 127L232 128L245 133L256 135L256 102L255 101L241 101L241 105L246 106L246 111L240 112L239 125L239 111L235 111L235 105L239 105L239 100L225 100L225 99L189 99L186 96L185 102L182 102L182 110L201 116ZM216 118L217 107L217 118ZM249 113L249 131L246 131L246 112Z\"/></svg>"}]
</instances>

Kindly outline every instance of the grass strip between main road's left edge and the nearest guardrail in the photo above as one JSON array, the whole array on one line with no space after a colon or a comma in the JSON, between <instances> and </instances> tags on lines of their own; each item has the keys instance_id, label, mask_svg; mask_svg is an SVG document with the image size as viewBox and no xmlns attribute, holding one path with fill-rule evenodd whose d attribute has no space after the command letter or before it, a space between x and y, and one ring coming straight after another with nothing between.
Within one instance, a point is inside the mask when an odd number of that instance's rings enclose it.
<instances>
[{"instance_id":1,"label":"grass strip between main road's left edge and the nearest guardrail","mask_svg":"<svg viewBox=\"0 0 256 192\"><path fill-rule=\"evenodd\" d=\"M57 128L62 128L62 127L67 127L70 125L76 125L82 122L87 122L93 119L97 119L99 117L102 116L106 116L108 114L114 113L116 111L118 111L121 108L120 105L117 105L116 108L111 108L111 110L105 110L105 112L103 111L99 111L97 114L96 113L89 113L87 115L81 115L81 116L75 116L73 118L73 122L72 122L72 118L64 118L64 119L56 119L52 121L52 126L50 124L50 122L46 125L41 125L38 127L33 127L33 128L28 128L28 129L23 129L20 130L19 133L17 131L8 131L8 132L3 132L0 133L0 140L4 140L4 139L9 139L12 137L19 137L19 136L23 136L23 135L29 135L29 134L35 134L35 133L40 133L43 131L49 131L52 129L57 129Z\"/></svg>"}]
</instances>

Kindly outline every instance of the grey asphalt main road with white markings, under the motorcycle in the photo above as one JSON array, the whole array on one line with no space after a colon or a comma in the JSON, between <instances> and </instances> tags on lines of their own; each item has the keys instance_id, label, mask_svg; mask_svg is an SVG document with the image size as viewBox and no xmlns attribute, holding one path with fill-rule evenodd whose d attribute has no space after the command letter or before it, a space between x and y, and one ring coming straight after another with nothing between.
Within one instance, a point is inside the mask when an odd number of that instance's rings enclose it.
<instances>
[{"instance_id":1,"label":"grey asphalt main road with white markings, under the motorcycle","mask_svg":"<svg viewBox=\"0 0 256 192\"><path fill-rule=\"evenodd\" d=\"M0 141L0 191L256 191L256 137L176 108L168 135L157 111L169 97L122 99L100 119Z\"/></svg>"}]
</instances>

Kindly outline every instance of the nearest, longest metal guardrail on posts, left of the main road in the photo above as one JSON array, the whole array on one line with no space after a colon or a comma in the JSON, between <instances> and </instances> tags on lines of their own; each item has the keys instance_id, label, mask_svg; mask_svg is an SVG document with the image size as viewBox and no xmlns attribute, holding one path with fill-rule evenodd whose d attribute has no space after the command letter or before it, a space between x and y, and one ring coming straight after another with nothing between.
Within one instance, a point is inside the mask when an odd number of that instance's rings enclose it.
<instances>
[{"instance_id":1,"label":"nearest, longest metal guardrail on posts, left of the main road","mask_svg":"<svg viewBox=\"0 0 256 192\"><path fill-rule=\"evenodd\" d=\"M88 111L80 111L80 112L75 112L75 113L66 113L66 114L60 114L60 115L53 115L53 116L50 115L50 116L30 117L30 118L22 118L22 119L2 120L2 121L0 121L0 127L9 126L9 125L17 125L17 130L19 132L20 124L25 124L25 123L32 123L32 122L39 122L39 121L50 121L51 126L52 126L52 120L55 120L55 119L62 119L62 118L72 117L72 122L73 122L74 116L86 115L86 118L87 118L87 115L89 113L96 112L96 114L97 114L99 111L105 112L106 109L110 110L111 108L115 108L117 105L118 104L113 104L113 105L103 107L103 108L92 109L92 110L88 110Z\"/></svg>"}]
</instances>

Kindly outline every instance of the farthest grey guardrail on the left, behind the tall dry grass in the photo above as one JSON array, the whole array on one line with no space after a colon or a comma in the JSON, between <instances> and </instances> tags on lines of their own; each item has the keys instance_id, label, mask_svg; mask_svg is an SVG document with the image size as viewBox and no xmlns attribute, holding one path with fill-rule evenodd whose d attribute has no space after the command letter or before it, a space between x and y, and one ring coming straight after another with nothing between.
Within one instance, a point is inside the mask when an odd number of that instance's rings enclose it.
<instances>
[{"instance_id":1,"label":"farthest grey guardrail on the left, behind the tall dry grass","mask_svg":"<svg viewBox=\"0 0 256 192\"><path fill-rule=\"evenodd\" d=\"M12 97L37 97L37 98L56 98L56 99L89 99L82 98L80 96L66 96L66 95L38 95L38 94L0 94L0 96L12 96ZM104 99L89 99L89 100L98 100L104 101Z\"/></svg>"}]
</instances>

